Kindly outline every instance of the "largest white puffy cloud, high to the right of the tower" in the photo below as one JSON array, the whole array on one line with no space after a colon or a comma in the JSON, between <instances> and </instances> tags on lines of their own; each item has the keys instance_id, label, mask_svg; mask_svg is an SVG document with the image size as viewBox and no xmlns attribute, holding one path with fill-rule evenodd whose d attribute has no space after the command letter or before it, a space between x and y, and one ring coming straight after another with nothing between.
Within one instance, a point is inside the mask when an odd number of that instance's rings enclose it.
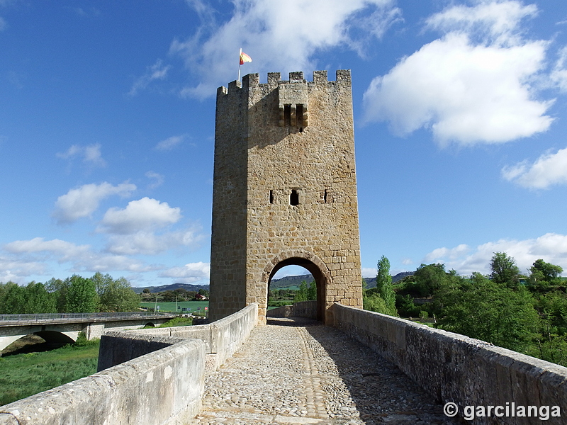
<instances>
[{"instance_id":1,"label":"largest white puffy cloud, high to the right of the tower","mask_svg":"<svg viewBox=\"0 0 567 425\"><path fill-rule=\"evenodd\" d=\"M520 27L536 13L519 1L482 1L431 16L426 28L444 35L371 81L364 119L388 121L398 135L430 129L441 145L546 131L552 101L537 100L532 80L546 65L548 42L526 40Z\"/></svg>"}]
</instances>

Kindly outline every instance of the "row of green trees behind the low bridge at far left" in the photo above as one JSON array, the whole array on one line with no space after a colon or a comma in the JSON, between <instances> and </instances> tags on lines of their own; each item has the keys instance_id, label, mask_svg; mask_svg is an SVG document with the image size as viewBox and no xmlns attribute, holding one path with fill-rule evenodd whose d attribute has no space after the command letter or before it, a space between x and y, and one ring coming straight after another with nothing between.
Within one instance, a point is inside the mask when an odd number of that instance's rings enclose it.
<instances>
[{"instance_id":1,"label":"row of green trees behind the low bridge at far left","mask_svg":"<svg viewBox=\"0 0 567 425\"><path fill-rule=\"evenodd\" d=\"M0 283L1 314L130 312L140 307L140 295L125 278L95 273L73 275L26 286Z\"/></svg>"}]
</instances>

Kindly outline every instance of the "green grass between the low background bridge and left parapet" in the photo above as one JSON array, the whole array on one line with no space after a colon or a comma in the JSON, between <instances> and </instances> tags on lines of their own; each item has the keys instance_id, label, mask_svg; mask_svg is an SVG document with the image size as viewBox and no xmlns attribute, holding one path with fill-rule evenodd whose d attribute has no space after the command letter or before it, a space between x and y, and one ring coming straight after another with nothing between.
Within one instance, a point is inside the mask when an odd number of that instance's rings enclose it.
<instances>
[{"instance_id":1,"label":"green grass between the low background bridge and left parapet","mask_svg":"<svg viewBox=\"0 0 567 425\"><path fill-rule=\"evenodd\" d=\"M0 357L0 406L96 373L99 341Z\"/></svg>"}]
</instances>

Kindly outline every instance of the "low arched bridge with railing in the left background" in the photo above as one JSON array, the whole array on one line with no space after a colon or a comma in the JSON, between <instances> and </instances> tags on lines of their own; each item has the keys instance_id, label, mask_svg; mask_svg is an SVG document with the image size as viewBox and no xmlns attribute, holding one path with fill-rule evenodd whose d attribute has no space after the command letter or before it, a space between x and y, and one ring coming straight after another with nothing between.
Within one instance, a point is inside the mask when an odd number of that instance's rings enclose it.
<instances>
[{"instance_id":1,"label":"low arched bridge with railing in the left background","mask_svg":"<svg viewBox=\"0 0 567 425\"><path fill-rule=\"evenodd\" d=\"M77 341L79 332L87 339L100 338L108 330L138 329L147 324L167 322L176 314L166 313L60 313L60 314L0 314L0 351L20 339L35 334L47 342Z\"/></svg>"}]
</instances>

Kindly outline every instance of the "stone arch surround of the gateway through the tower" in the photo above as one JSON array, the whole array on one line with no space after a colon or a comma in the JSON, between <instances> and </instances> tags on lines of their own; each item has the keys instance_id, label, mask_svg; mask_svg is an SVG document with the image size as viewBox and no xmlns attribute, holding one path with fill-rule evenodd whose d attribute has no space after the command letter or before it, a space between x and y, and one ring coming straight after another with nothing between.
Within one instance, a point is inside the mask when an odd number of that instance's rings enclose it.
<instances>
[{"instance_id":1,"label":"stone arch surround of the gateway through the tower","mask_svg":"<svg viewBox=\"0 0 567 425\"><path fill-rule=\"evenodd\" d=\"M264 268L262 273L262 283L265 283L266 296L259 300L259 314L264 312L264 317L260 317L265 321L265 314L268 306L268 288L271 279L277 271L286 266L301 266L305 268L315 279L317 286L317 319L325 322L325 312L327 310L327 286L331 282L331 274L327 265L315 254L308 251L283 251L275 256ZM262 291L264 292L264 291Z\"/></svg>"}]
</instances>

